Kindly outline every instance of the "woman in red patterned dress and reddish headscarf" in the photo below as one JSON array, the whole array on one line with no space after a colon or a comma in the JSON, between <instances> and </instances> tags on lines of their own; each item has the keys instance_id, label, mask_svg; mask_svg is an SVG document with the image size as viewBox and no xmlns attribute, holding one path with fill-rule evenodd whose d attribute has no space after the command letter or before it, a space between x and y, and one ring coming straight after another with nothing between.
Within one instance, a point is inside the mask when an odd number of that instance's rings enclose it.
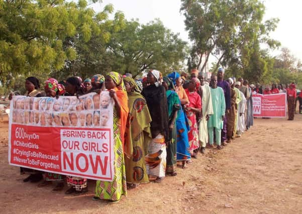
<instances>
[{"instance_id":1,"label":"woman in red patterned dress and reddish headscarf","mask_svg":"<svg viewBox=\"0 0 302 214\"><path fill-rule=\"evenodd\" d=\"M198 144L198 130L196 122L196 113L200 114L202 110L202 98L196 92L196 89L199 88L200 81L194 77L190 80L188 88L185 89L186 95L189 99L189 104L185 106L186 115L189 120L190 131L188 132L190 153L192 157L196 158L197 149L199 148ZM195 150L195 151L194 151Z\"/></svg>"}]
</instances>

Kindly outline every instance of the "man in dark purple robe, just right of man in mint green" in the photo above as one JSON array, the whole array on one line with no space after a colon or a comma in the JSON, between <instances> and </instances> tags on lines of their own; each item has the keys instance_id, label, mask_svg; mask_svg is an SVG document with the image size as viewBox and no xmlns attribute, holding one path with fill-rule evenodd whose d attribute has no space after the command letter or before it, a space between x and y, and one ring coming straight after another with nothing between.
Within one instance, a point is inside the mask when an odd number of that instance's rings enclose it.
<instances>
[{"instance_id":1,"label":"man in dark purple robe, just right of man in mint green","mask_svg":"<svg viewBox=\"0 0 302 214\"><path fill-rule=\"evenodd\" d=\"M218 69L218 73L217 73L217 86L221 87L224 91L224 96L225 96L225 102L226 102L226 111L229 112L230 108L231 108L231 96L230 96L230 84L228 83L228 81L224 80L224 69L220 68ZM226 115L227 115L226 112ZM222 129L222 133L221 133L221 143L222 145L227 145L226 144L226 140L227 140L227 122L228 122L228 118L227 116L224 117L224 126Z\"/></svg>"}]
</instances>

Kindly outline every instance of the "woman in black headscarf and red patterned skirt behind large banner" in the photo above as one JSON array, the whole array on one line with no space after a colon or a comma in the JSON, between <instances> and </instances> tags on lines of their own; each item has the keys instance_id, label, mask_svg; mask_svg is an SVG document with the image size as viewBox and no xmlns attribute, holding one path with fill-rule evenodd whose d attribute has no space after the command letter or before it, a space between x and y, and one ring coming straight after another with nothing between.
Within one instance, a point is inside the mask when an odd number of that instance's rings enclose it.
<instances>
[{"instance_id":1,"label":"woman in black headscarf and red patterned skirt behind large banner","mask_svg":"<svg viewBox=\"0 0 302 214\"><path fill-rule=\"evenodd\" d=\"M85 93L82 82L78 77L69 77L66 80L65 85L65 96L76 96L77 98L79 98L79 96ZM73 192L84 193L88 191L86 178L66 176L66 181L70 188L65 191L65 194L71 194Z\"/></svg>"}]
</instances>

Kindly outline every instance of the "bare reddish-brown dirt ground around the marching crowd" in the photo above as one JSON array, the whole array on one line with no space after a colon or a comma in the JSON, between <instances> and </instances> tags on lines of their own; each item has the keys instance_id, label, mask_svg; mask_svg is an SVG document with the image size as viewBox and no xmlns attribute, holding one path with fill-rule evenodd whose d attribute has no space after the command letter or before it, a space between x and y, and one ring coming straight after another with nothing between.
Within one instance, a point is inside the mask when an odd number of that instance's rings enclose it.
<instances>
[{"instance_id":1,"label":"bare reddish-brown dirt ground around the marching crowd","mask_svg":"<svg viewBox=\"0 0 302 214\"><path fill-rule=\"evenodd\" d=\"M129 190L119 203L24 183L8 164L8 122L0 121L1 213L302 213L302 115L255 119L223 150L207 150L176 177ZM67 187L65 187L67 188Z\"/></svg>"}]
</instances>

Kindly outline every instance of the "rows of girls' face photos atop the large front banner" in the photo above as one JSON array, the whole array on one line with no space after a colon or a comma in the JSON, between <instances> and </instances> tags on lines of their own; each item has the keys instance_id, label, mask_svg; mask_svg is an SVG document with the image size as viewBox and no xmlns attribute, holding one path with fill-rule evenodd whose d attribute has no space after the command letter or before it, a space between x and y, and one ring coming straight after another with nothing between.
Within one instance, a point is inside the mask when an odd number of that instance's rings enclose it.
<instances>
[{"instance_id":1,"label":"rows of girls' face photos atop the large front banner","mask_svg":"<svg viewBox=\"0 0 302 214\"><path fill-rule=\"evenodd\" d=\"M83 96L14 96L12 123L45 127L104 127L109 121L113 100L109 92Z\"/></svg>"}]
</instances>

